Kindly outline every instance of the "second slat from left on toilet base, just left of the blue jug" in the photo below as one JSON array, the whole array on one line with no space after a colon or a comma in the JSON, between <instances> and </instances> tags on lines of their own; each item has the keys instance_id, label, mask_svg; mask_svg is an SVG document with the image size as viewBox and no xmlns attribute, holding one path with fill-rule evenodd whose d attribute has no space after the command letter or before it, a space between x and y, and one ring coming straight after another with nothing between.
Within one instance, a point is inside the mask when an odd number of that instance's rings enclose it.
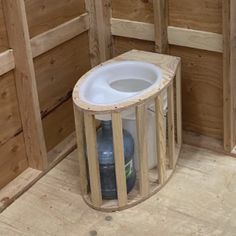
<instances>
[{"instance_id":1,"label":"second slat from left on toilet base, just left of the blue jug","mask_svg":"<svg viewBox=\"0 0 236 236\"><path fill-rule=\"evenodd\" d=\"M99 161L96 142L96 124L94 115L84 114L85 136L87 144L87 158L89 167L89 182L91 188L91 201L94 206L102 204Z\"/></svg>"}]
</instances>

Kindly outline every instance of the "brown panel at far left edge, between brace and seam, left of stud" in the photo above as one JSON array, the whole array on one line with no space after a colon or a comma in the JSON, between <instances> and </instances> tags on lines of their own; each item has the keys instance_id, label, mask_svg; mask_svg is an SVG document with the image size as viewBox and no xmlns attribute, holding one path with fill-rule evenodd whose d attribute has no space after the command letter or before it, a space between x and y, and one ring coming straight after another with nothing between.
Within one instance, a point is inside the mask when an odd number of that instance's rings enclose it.
<instances>
[{"instance_id":1,"label":"brown panel at far left edge, between brace and seam, left of stud","mask_svg":"<svg viewBox=\"0 0 236 236\"><path fill-rule=\"evenodd\" d=\"M9 72L0 77L0 145L21 130L15 79Z\"/></svg>"}]
</instances>

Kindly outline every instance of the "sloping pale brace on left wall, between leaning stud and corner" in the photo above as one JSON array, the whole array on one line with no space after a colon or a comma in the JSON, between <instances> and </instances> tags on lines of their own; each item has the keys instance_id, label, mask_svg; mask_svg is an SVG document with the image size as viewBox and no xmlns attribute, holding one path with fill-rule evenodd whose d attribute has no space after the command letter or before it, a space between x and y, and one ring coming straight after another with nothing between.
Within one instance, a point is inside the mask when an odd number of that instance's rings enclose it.
<instances>
[{"instance_id":1,"label":"sloping pale brace on left wall, between leaning stud and corner","mask_svg":"<svg viewBox=\"0 0 236 236\"><path fill-rule=\"evenodd\" d=\"M64 24L33 37L31 41L33 57L76 37L89 29L89 14L84 13Z\"/></svg>"}]
</instances>

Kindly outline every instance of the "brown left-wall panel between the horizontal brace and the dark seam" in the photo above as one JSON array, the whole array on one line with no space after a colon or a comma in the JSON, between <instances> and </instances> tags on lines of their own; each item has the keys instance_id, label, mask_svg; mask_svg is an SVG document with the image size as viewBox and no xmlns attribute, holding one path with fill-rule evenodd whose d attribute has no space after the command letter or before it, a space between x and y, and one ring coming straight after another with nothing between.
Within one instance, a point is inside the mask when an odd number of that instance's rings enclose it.
<instances>
[{"instance_id":1,"label":"brown left-wall panel between the horizontal brace and the dark seam","mask_svg":"<svg viewBox=\"0 0 236 236\"><path fill-rule=\"evenodd\" d=\"M34 60L43 114L66 100L77 80L90 69L88 33L48 51Z\"/></svg>"}]
</instances>

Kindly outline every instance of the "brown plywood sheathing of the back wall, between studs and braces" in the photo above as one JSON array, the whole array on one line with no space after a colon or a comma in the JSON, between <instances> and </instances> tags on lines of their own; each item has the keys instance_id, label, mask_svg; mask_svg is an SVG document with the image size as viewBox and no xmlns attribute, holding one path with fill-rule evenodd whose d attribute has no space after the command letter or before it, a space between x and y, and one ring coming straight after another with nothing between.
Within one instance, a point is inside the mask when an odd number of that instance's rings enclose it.
<instances>
[{"instance_id":1,"label":"brown plywood sheathing of the back wall, between studs and braces","mask_svg":"<svg viewBox=\"0 0 236 236\"><path fill-rule=\"evenodd\" d=\"M169 0L168 13L169 26L222 34L222 0ZM153 3L112 0L112 17L153 24ZM155 51L151 40L113 36L113 42L115 55L132 48ZM222 140L222 53L176 45L169 53L182 58L184 130Z\"/></svg>"}]
</instances>

